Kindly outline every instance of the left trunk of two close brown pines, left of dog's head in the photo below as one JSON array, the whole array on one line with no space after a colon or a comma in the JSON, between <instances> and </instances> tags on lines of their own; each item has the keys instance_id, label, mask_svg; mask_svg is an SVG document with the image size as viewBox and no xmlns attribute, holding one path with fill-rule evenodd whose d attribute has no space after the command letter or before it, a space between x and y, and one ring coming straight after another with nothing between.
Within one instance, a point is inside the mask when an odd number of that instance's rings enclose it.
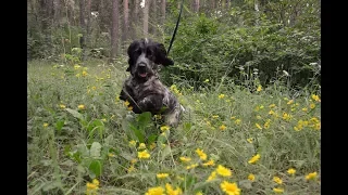
<instances>
[{"instance_id":1,"label":"left trunk of two close brown pines, left of dog's head","mask_svg":"<svg viewBox=\"0 0 348 195\"><path fill-rule=\"evenodd\" d=\"M119 0L112 1L111 58L117 55L119 42Z\"/></svg>"}]
</instances>

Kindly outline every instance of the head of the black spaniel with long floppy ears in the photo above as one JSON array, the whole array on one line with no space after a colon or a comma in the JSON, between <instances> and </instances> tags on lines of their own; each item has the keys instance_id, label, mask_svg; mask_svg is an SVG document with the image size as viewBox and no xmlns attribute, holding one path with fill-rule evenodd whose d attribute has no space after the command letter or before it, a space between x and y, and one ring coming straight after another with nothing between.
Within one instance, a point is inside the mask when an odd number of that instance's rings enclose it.
<instances>
[{"instance_id":1,"label":"head of the black spaniel with long floppy ears","mask_svg":"<svg viewBox=\"0 0 348 195\"><path fill-rule=\"evenodd\" d=\"M129 67L126 72L130 72L134 77L144 80L156 75L158 65L169 66L174 64L166 56L164 46L150 39L133 41L127 53Z\"/></svg>"}]
</instances>

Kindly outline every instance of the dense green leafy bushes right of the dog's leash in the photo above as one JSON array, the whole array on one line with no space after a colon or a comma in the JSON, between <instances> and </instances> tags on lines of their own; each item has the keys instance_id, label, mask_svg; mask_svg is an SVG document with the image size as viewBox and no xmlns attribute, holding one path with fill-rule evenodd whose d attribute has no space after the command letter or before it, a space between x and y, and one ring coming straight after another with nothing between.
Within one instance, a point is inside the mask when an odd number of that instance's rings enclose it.
<instances>
[{"instance_id":1,"label":"dense green leafy bushes right of the dog's leash","mask_svg":"<svg viewBox=\"0 0 348 195\"><path fill-rule=\"evenodd\" d=\"M236 18L244 23L236 23ZM167 83L188 80L195 87L202 86L206 79L220 82L219 78L224 76L244 83L243 69L248 78L257 70L260 82L269 84L277 70L286 70L291 87L304 87L313 77L312 84L318 84L319 30L318 26L311 29L284 26L264 14L256 24L254 14L239 8L231 9L223 18L187 16L181 22L171 53L176 65L165 70L164 78L171 74Z\"/></svg>"}]
</instances>

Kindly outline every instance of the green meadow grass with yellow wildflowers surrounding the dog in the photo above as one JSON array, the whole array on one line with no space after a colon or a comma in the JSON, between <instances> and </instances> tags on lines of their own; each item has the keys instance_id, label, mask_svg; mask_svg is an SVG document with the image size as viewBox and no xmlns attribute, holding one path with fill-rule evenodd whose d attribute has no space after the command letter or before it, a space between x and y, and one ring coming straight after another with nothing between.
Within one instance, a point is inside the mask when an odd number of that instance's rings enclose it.
<instances>
[{"instance_id":1,"label":"green meadow grass with yellow wildflowers surrounding the dog","mask_svg":"<svg viewBox=\"0 0 348 195\"><path fill-rule=\"evenodd\" d=\"M313 94L291 99L279 86L251 93L227 80L194 91L178 82L171 89L186 112L179 127L162 132L160 121L133 114L117 100L125 64L96 61L75 69L28 63L28 194L145 194L158 186L167 194L178 193L176 187L187 195L225 194L223 181L236 183L241 194L320 194L321 105ZM138 158L140 142L147 159ZM260 159L249 164L257 154ZM214 165L203 166L209 160ZM207 181L219 165L232 176L217 171ZM306 180L311 172L318 176Z\"/></svg>"}]
</instances>

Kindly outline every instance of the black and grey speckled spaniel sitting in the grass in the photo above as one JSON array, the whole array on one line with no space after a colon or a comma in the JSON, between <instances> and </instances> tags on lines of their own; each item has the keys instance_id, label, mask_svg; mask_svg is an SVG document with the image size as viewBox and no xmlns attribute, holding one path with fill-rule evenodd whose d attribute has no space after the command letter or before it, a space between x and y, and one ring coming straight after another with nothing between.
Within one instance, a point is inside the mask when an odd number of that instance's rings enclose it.
<instances>
[{"instance_id":1,"label":"black and grey speckled spaniel sitting in the grass","mask_svg":"<svg viewBox=\"0 0 348 195\"><path fill-rule=\"evenodd\" d=\"M160 81L159 67L174 65L162 43L151 39L135 40L127 50L130 76L124 81L120 100L128 101L135 114L161 114L166 125L177 127L183 106Z\"/></svg>"}]
</instances>

